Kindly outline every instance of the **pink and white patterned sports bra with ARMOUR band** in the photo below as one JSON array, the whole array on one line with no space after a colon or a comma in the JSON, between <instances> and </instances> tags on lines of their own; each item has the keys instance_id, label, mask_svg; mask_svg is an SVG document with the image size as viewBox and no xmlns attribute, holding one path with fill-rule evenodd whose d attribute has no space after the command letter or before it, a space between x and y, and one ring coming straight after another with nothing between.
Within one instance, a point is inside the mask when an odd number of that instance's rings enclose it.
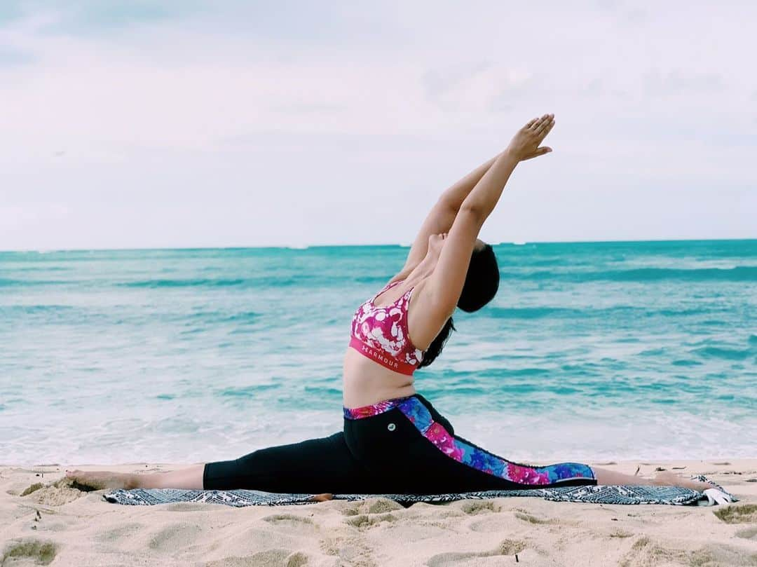
<instances>
[{"instance_id":1,"label":"pink and white patterned sports bra with ARMOUR band","mask_svg":"<svg viewBox=\"0 0 757 567\"><path fill-rule=\"evenodd\" d=\"M373 304L379 295L404 281L385 285L357 308L352 317L350 347L394 372L411 375L423 360L423 351L413 345L407 330L407 307L415 288L384 307Z\"/></svg>"}]
</instances>

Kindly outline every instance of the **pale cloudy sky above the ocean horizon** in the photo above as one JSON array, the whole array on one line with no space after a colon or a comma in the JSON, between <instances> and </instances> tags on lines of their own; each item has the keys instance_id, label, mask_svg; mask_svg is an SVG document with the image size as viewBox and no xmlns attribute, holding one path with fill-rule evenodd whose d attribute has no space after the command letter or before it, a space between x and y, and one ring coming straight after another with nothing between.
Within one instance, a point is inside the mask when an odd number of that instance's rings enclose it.
<instances>
[{"instance_id":1,"label":"pale cloudy sky above the ocean horizon","mask_svg":"<svg viewBox=\"0 0 757 567\"><path fill-rule=\"evenodd\" d=\"M0 2L0 250L757 238L753 2Z\"/></svg>"}]
</instances>

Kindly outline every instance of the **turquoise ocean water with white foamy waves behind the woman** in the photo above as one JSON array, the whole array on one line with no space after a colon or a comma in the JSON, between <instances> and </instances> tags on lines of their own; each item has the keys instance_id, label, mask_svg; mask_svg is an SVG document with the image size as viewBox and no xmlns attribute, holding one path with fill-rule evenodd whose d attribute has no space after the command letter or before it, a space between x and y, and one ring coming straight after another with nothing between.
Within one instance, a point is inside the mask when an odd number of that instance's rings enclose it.
<instances>
[{"instance_id":1,"label":"turquoise ocean water with white foamy waves behind the woman","mask_svg":"<svg viewBox=\"0 0 757 567\"><path fill-rule=\"evenodd\" d=\"M416 388L519 461L757 456L757 241L496 245ZM0 463L195 463L341 429L396 245L0 252Z\"/></svg>"}]
</instances>

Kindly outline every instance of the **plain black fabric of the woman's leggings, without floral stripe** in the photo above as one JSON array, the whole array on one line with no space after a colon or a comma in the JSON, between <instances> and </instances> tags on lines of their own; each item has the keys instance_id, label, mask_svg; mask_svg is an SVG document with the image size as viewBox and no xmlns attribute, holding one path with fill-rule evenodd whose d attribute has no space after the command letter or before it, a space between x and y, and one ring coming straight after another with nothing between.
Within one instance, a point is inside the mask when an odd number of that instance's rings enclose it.
<instances>
[{"instance_id":1,"label":"plain black fabric of the woman's leggings, without floral stripe","mask_svg":"<svg viewBox=\"0 0 757 567\"><path fill-rule=\"evenodd\" d=\"M413 395L454 435L452 424L425 397ZM475 469L441 452L396 407L362 419L345 418L344 431L329 437L206 463L202 480L205 490L299 494L442 494L597 484L593 478L578 478L534 486Z\"/></svg>"}]
</instances>

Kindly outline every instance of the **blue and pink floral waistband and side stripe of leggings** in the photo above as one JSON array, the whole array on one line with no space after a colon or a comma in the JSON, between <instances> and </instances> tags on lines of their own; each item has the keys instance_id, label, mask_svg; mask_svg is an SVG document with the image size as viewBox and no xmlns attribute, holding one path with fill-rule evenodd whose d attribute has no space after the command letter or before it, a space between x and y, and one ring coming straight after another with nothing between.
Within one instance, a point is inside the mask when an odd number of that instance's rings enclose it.
<instances>
[{"instance_id":1,"label":"blue and pink floral waistband and side stripe of leggings","mask_svg":"<svg viewBox=\"0 0 757 567\"><path fill-rule=\"evenodd\" d=\"M377 416L394 408L410 419L422 435L442 453L481 472L496 475L519 484L553 484L575 479L594 479L590 466L582 463L556 463L548 466L528 466L512 463L472 444L450 435L449 431L431 417L428 408L414 396L398 397L370 406L344 408L347 419Z\"/></svg>"}]
</instances>

